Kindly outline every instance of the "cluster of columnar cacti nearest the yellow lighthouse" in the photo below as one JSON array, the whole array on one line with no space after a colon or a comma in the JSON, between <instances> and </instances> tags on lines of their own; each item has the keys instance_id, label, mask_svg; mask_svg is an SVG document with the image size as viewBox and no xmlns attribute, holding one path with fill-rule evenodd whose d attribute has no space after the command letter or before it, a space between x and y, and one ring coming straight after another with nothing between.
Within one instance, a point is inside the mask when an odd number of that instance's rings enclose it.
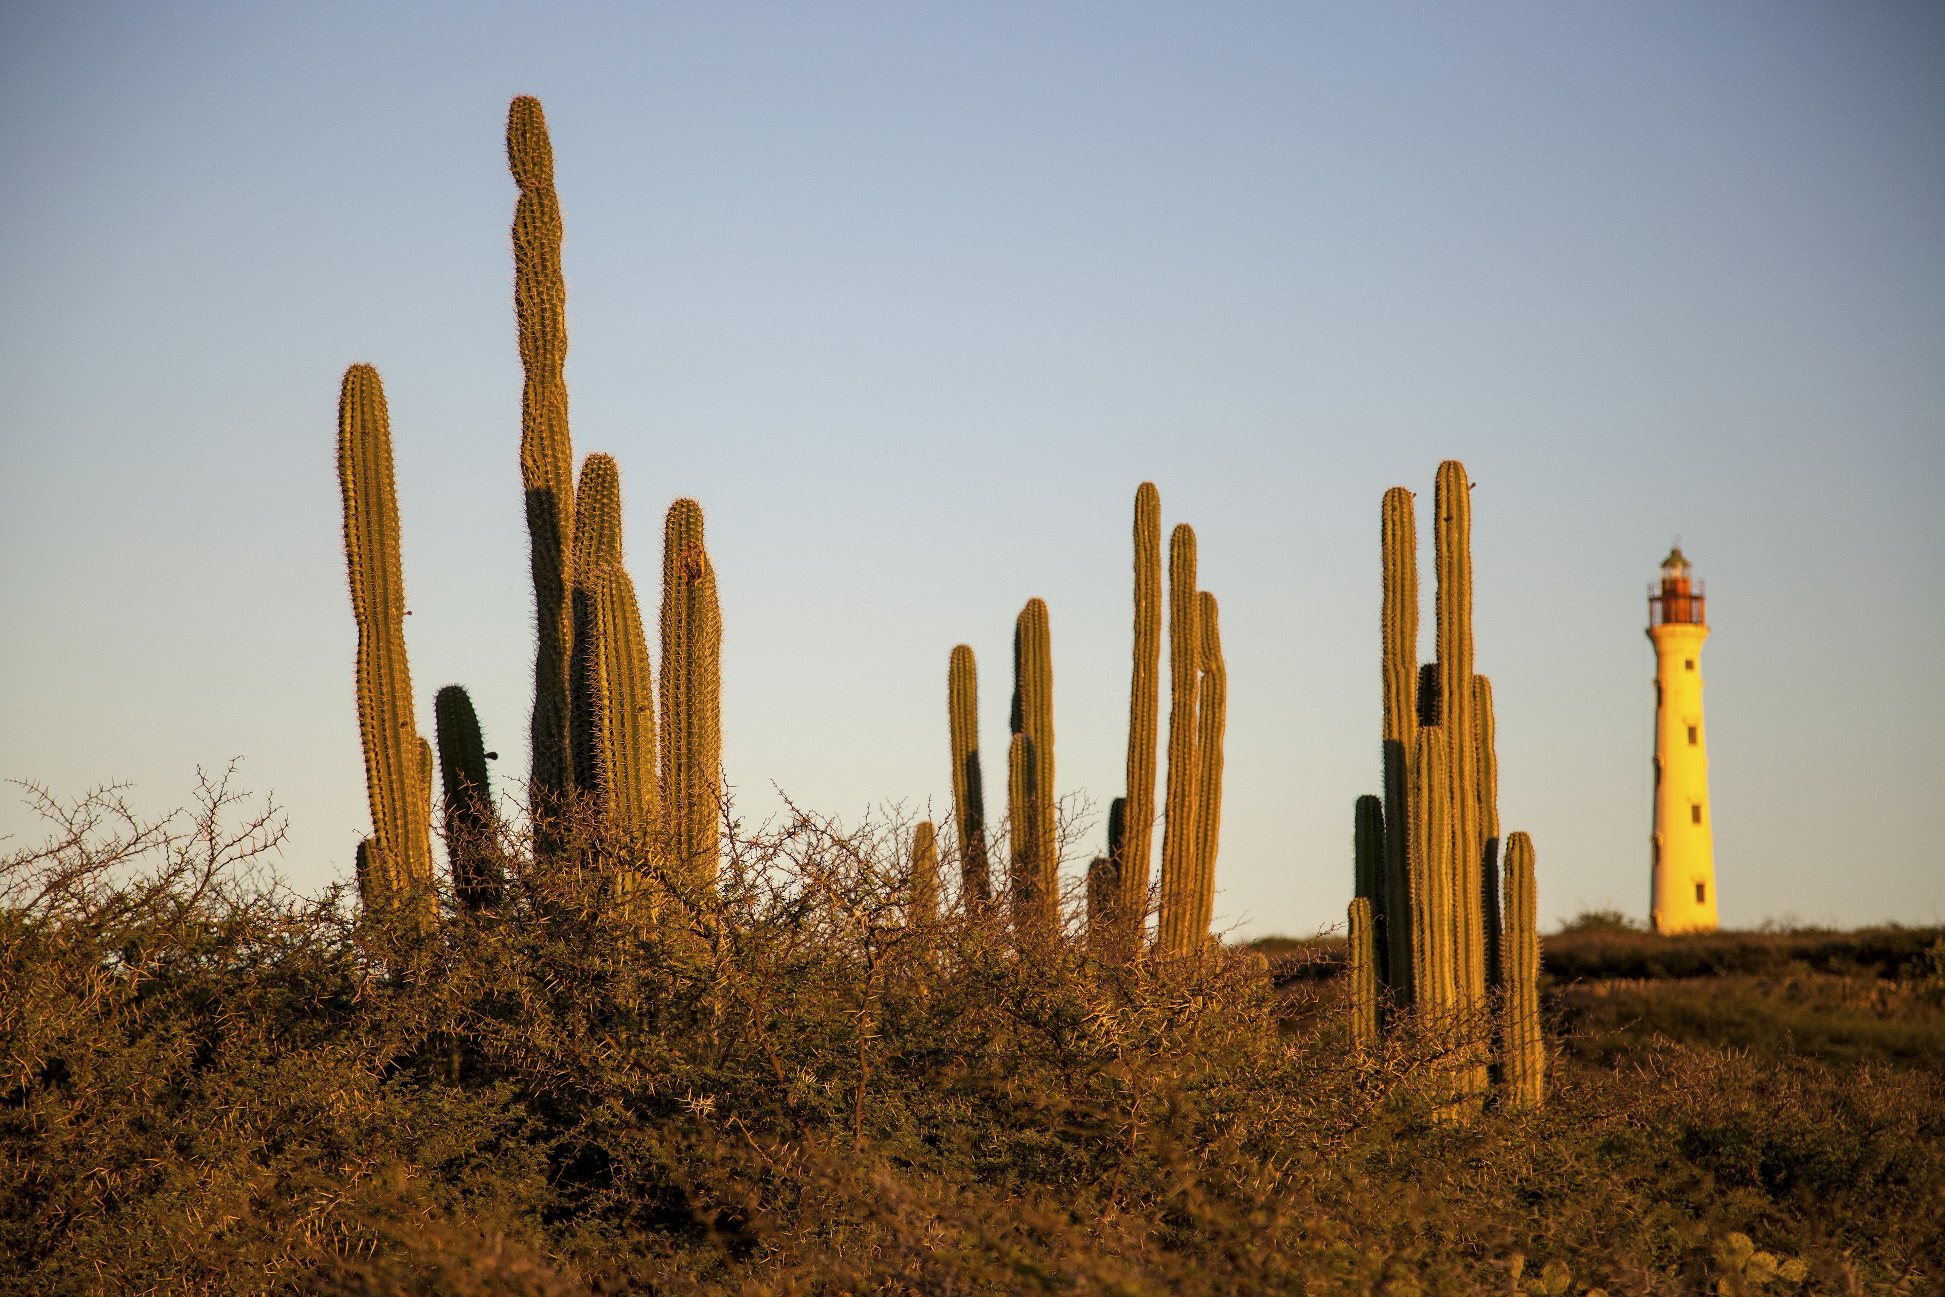
<instances>
[{"instance_id":1,"label":"cluster of columnar cacti nearest the yellow lighthouse","mask_svg":"<svg viewBox=\"0 0 1945 1297\"><path fill-rule=\"evenodd\" d=\"M1507 842L1502 893L1492 683L1472 671L1472 500L1455 459L1439 465L1433 515L1437 661L1420 667L1412 492L1385 492L1385 793L1356 807L1352 1036L1369 1042L1404 1015L1422 1025L1480 1021L1498 1005L1505 1099L1538 1104L1533 842ZM1486 1079L1482 1054L1461 1069L1465 1091L1482 1091Z\"/></svg>"}]
</instances>

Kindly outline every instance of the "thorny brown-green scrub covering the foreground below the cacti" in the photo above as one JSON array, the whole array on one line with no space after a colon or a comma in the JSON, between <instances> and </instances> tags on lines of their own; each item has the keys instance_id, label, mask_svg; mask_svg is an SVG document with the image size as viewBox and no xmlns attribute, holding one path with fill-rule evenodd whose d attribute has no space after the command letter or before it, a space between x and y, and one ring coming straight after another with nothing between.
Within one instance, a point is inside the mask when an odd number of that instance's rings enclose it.
<instances>
[{"instance_id":1,"label":"thorny brown-green scrub covering the foreground below the cacti","mask_svg":"<svg viewBox=\"0 0 1945 1297\"><path fill-rule=\"evenodd\" d=\"M222 780L161 824L113 789L41 805L0 916L8 1293L1945 1274L1945 1081L1916 1056L1574 1009L1548 1108L1441 1120L1451 1052L1354 1054L1346 978L1293 957L1114 964L980 912L904 924L895 819L733 828L714 898L646 928L508 842L502 904L442 898L418 935L282 889L276 819Z\"/></svg>"}]
</instances>

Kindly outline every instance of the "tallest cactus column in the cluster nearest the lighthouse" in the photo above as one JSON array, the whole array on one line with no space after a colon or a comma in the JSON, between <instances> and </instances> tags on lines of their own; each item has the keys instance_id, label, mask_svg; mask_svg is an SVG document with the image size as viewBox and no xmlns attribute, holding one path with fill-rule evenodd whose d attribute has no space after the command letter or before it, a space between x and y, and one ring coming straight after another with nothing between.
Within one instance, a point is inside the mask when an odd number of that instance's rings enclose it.
<instances>
[{"instance_id":1,"label":"tallest cactus column in the cluster nearest the lighthouse","mask_svg":"<svg viewBox=\"0 0 1945 1297\"><path fill-rule=\"evenodd\" d=\"M1439 465L1433 492L1439 642L1439 727L1449 753L1453 859L1457 865L1453 910L1453 968L1459 999L1476 1005L1486 998L1486 922L1482 914L1480 856L1486 836L1478 817L1478 723L1472 712L1472 488L1465 465Z\"/></svg>"}]
</instances>

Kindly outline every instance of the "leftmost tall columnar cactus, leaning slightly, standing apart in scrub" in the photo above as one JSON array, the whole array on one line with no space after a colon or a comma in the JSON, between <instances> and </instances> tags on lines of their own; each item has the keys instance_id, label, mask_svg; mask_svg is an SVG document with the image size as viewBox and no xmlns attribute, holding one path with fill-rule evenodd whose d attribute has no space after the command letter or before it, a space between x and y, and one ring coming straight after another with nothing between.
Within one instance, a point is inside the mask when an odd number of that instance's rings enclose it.
<instances>
[{"instance_id":1,"label":"leftmost tall columnar cactus, leaning slightly, standing apart in scrub","mask_svg":"<svg viewBox=\"0 0 1945 1297\"><path fill-rule=\"evenodd\" d=\"M412 671L405 657L405 576L399 564L399 498L391 476L391 420L377 369L352 366L338 393L338 486L344 496L344 566L358 622L358 735L366 754L371 838L358 850L366 908L397 893L432 914L432 780L412 721Z\"/></svg>"}]
</instances>

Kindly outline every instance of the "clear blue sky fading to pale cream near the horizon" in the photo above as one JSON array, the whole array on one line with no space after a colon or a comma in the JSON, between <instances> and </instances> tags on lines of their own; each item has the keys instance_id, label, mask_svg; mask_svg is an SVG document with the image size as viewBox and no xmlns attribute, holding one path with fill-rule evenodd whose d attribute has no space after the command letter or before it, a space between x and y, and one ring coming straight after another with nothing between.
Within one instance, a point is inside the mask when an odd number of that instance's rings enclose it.
<instances>
[{"instance_id":1,"label":"clear blue sky fading to pale cream near the horizon","mask_svg":"<svg viewBox=\"0 0 1945 1297\"><path fill-rule=\"evenodd\" d=\"M669 500L706 509L747 821L943 815L947 655L976 649L1004 754L1029 597L1058 791L1105 811L1153 480L1221 601L1216 924L1340 926L1379 500L1420 496L1430 659L1461 459L1544 924L1645 918L1642 632L1677 537L1723 922L1945 922L1920 2L8 4L0 778L165 811L241 756L280 869L350 877L335 408L371 362L420 729L467 684L519 788L519 93L554 142L576 455L620 461L644 605ZM8 850L41 836L18 791Z\"/></svg>"}]
</instances>

